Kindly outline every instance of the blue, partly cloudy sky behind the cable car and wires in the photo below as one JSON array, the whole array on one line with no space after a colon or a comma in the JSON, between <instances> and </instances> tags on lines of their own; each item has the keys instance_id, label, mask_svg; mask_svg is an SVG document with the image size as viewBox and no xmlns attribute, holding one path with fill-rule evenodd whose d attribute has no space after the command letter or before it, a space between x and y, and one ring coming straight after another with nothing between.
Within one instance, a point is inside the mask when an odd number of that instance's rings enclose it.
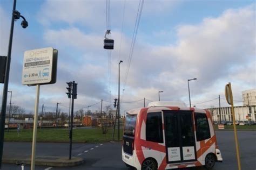
<instances>
[{"instance_id":1,"label":"blue, partly cloudy sky behind the cable car and wires","mask_svg":"<svg viewBox=\"0 0 256 170\"><path fill-rule=\"evenodd\" d=\"M115 46L109 66L103 49L105 1L17 1L16 9L28 20L29 27L22 29L21 19L15 23L9 84L14 103L33 110L35 87L21 84L23 54L49 46L59 51L57 83L41 88L40 104L49 110L55 110L57 102L62 102L60 109L67 110L65 82L71 80L78 82L76 109L101 99L113 101L117 97L119 60L124 61L120 69L123 102L144 97L158 100L158 91L163 90L161 100L188 104L187 79L193 77L198 80L190 82L192 104L224 97L228 82L238 101L242 100L241 91L256 88L255 1L145 1L125 84L138 4L135 0L111 1ZM6 55L8 48L11 10L12 1L0 1L0 55ZM0 84L0 101L2 89ZM226 105L224 100L221 102ZM142 105L143 101L123 103L122 111ZM217 105L214 100L197 107Z\"/></svg>"}]
</instances>

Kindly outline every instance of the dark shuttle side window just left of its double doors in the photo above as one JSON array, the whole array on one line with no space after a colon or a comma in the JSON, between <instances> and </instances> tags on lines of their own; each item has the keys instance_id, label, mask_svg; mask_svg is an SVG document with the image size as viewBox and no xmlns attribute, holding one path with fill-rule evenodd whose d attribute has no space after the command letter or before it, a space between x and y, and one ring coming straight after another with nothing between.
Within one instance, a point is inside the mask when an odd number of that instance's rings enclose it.
<instances>
[{"instance_id":1,"label":"dark shuttle side window just left of its double doors","mask_svg":"<svg viewBox=\"0 0 256 170\"><path fill-rule=\"evenodd\" d=\"M163 125L161 112L147 114L146 140L163 143Z\"/></svg>"}]
</instances>

